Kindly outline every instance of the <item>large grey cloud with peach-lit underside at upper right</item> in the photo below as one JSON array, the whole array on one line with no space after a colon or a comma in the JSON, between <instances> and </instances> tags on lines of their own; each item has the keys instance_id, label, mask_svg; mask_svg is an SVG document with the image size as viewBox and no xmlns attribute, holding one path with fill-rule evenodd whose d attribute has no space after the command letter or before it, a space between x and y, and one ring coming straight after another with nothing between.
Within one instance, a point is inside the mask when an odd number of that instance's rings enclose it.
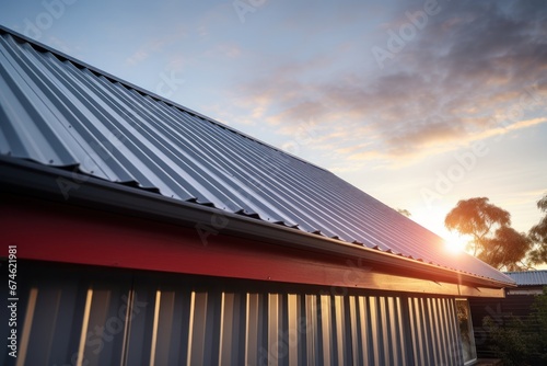
<instances>
[{"instance_id":1,"label":"large grey cloud with peach-lit underside at upper right","mask_svg":"<svg viewBox=\"0 0 547 366\"><path fill-rule=\"evenodd\" d=\"M547 8L442 7L384 70L338 68L344 57L333 50L272 64L234 90L281 135L294 138L312 118L314 134L324 136L315 140L351 160L400 164L545 123L537 116L547 112ZM407 10L394 10L400 16L387 26L403 24Z\"/></svg>"}]
</instances>

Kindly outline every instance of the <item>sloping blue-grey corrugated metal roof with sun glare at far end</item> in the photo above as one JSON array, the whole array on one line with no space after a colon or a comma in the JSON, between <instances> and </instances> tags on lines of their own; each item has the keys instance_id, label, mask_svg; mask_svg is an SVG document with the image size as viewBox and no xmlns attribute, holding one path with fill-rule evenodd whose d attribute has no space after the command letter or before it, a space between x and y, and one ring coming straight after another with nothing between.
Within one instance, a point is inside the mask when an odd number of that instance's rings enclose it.
<instances>
[{"instance_id":1,"label":"sloping blue-grey corrugated metal roof with sun glare at far end","mask_svg":"<svg viewBox=\"0 0 547 366\"><path fill-rule=\"evenodd\" d=\"M1 33L1 155L511 283L322 168Z\"/></svg>"}]
</instances>

